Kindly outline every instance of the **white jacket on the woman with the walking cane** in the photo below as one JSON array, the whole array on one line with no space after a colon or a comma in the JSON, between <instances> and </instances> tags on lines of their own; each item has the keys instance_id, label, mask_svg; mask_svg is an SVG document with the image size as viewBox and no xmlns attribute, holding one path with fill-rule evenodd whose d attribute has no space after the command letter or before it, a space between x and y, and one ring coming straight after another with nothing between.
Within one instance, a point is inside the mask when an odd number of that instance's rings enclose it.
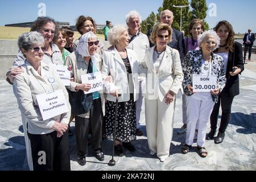
<instances>
[{"instance_id":1,"label":"white jacket on the woman with the walking cane","mask_svg":"<svg viewBox=\"0 0 256 182\"><path fill-rule=\"evenodd\" d=\"M134 94L134 101L138 100L139 82L138 72L139 63L136 53L131 49L126 49L127 57L131 65L131 80L133 81L133 88L129 88L127 79L127 71L125 64L116 48L108 50L103 53L102 63L102 78L105 79L111 75L113 82L105 82L106 99L115 102L115 97L109 94L110 91L117 89L118 93L121 93L121 97L118 97L118 102L126 102L130 100L130 93Z\"/></svg>"}]
</instances>

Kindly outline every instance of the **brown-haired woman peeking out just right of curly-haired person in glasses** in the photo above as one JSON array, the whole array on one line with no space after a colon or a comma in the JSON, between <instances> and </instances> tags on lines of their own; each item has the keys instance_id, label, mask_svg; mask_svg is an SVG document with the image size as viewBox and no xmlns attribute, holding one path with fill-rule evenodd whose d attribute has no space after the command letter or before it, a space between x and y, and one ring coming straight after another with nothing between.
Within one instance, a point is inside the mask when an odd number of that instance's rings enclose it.
<instances>
[{"instance_id":1,"label":"brown-haired woman peeking out just right of curly-haired person in glasses","mask_svg":"<svg viewBox=\"0 0 256 182\"><path fill-rule=\"evenodd\" d=\"M61 55L62 55L62 61L63 65L65 65L65 59L70 55L70 52L65 49L65 46L67 44L68 36L63 30L63 28L60 28L55 38L53 38L53 43L60 49Z\"/></svg>"}]
</instances>

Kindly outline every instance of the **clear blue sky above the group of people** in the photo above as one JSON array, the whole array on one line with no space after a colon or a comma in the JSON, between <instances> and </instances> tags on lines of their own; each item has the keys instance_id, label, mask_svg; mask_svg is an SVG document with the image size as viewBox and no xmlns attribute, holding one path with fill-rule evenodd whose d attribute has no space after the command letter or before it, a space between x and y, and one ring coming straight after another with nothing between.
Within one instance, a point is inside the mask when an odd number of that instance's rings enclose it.
<instances>
[{"instance_id":1,"label":"clear blue sky above the group of people","mask_svg":"<svg viewBox=\"0 0 256 182\"><path fill-rule=\"evenodd\" d=\"M92 16L96 23L105 24L106 20L114 24L125 23L125 15L137 10L142 19L162 6L163 0L9 0L1 1L0 26L11 23L31 22L38 17L39 3L46 4L46 15L60 22L75 25L79 15ZM252 28L256 32L255 0L207 0L207 5L216 4L216 16L207 16L210 28L220 20L232 23L236 32L246 32ZM175 15L175 18L180 18Z\"/></svg>"}]
</instances>

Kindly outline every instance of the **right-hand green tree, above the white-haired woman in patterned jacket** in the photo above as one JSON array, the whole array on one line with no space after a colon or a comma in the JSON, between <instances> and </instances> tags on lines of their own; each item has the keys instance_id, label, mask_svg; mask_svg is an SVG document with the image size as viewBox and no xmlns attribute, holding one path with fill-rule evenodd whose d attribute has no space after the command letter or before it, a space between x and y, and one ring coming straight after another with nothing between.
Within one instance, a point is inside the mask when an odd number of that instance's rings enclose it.
<instances>
[{"instance_id":1,"label":"right-hand green tree, above the white-haired woman in patterned jacket","mask_svg":"<svg viewBox=\"0 0 256 182\"><path fill-rule=\"evenodd\" d=\"M207 16L207 3L205 0L191 0L190 3L192 7L192 19L193 18L200 18L203 20L204 23L204 29L209 30L209 25L207 22L205 22L205 18Z\"/></svg>"}]
</instances>

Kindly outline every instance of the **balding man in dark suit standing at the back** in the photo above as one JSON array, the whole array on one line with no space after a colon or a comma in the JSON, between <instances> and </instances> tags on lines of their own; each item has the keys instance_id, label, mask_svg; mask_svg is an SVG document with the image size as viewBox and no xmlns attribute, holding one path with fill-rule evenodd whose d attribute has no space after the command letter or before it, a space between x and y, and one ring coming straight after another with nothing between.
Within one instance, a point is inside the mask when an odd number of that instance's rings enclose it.
<instances>
[{"instance_id":1,"label":"balding man in dark suit standing at the back","mask_svg":"<svg viewBox=\"0 0 256 182\"><path fill-rule=\"evenodd\" d=\"M174 14L170 10L164 10L160 14L160 22L166 23L170 27L172 26L172 21L174 20ZM172 28L172 27L171 27ZM182 62L185 57L185 44L183 33L172 28L172 42L167 44L169 47L177 49L180 53L180 61Z\"/></svg>"}]
</instances>

